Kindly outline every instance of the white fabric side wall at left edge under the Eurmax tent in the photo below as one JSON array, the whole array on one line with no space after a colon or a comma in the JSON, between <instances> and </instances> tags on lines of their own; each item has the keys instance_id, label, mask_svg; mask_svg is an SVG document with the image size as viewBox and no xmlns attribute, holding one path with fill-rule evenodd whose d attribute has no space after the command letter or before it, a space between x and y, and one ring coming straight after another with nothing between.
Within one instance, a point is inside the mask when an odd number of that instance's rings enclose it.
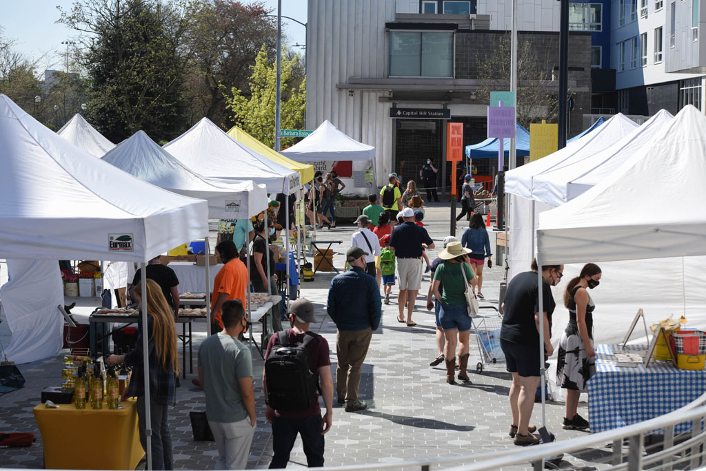
<instances>
[{"instance_id":1,"label":"white fabric side wall at left edge under the Eurmax tent","mask_svg":"<svg viewBox=\"0 0 706 471\"><path fill-rule=\"evenodd\" d=\"M18 364L42 360L61 349L64 286L56 260L8 259L9 281L0 298L12 332L8 359Z\"/></svg>"}]
</instances>

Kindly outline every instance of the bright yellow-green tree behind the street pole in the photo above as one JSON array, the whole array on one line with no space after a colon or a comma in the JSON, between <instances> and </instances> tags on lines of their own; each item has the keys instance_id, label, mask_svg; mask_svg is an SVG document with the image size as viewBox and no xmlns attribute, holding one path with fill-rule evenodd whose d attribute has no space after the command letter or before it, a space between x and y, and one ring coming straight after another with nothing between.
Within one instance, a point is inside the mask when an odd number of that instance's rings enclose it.
<instances>
[{"instance_id":1,"label":"bright yellow-green tree behind the street pole","mask_svg":"<svg viewBox=\"0 0 706 471\"><path fill-rule=\"evenodd\" d=\"M306 110L306 80L295 80L292 73L299 67L299 56L282 54L282 100L280 125L282 129L304 128ZM225 96L226 108L232 111L232 121L246 133L253 135L265 145L275 145L275 99L277 90L277 63L268 61L267 51L261 49L249 83L249 96L233 87ZM285 147L293 142L292 137L282 138Z\"/></svg>"}]
</instances>

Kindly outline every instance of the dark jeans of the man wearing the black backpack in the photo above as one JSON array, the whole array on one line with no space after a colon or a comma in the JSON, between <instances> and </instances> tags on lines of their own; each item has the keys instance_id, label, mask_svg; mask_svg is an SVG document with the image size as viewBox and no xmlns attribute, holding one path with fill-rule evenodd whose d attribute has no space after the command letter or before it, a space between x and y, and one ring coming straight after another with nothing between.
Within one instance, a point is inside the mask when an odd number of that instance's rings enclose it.
<instances>
[{"instance_id":1,"label":"dark jeans of the man wearing the black backpack","mask_svg":"<svg viewBox=\"0 0 706 471\"><path fill-rule=\"evenodd\" d=\"M305 419L285 419L275 417L272 421L272 450L274 455L270 469L287 467L289 453L292 452L297 434L301 435L306 464L309 467L323 466L324 440L321 434L321 415L311 415Z\"/></svg>"}]
</instances>

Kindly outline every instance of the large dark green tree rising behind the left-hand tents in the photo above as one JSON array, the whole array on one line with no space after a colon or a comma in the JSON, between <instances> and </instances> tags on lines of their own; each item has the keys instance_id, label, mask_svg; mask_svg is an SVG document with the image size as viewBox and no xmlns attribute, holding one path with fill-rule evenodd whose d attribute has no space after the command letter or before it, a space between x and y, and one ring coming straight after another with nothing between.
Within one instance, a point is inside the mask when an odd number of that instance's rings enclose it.
<instances>
[{"instance_id":1,"label":"large dark green tree rising behind the left-hand tents","mask_svg":"<svg viewBox=\"0 0 706 471\"><path fill-rule=\"evenodd\" d=\"M186 127L184 0L79 0L61 23L83 32L90 121L113 142L138 130L172 139Z\"/></svg>"}]
</instances>

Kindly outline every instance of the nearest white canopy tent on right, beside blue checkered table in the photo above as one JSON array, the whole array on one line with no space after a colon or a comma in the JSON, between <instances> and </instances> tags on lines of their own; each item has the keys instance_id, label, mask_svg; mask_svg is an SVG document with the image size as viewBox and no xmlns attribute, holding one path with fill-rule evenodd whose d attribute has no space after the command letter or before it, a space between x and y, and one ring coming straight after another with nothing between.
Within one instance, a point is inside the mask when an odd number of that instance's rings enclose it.
<instances>
[{"instance_id":1,"label":"nearest white canopy tent on right, beside blue checkered table","mask_svg":"<svg viewBox=\"0 0 706 471\"><path fill-rule=\"evenodd\" d=\"M539 215L540 267L584 262L597 262L602 267L601 287L592 292L597 304L597 332L605 329L614 331L617 338L625 336L635 312L645 307L635 288L642 288L642 279L651 272L657 274L652 278L652 290L666 295L670 293L664 292L664 281L681 275L683 305L665 303L656 310L645 309L648 322L684 313L689 326L706 327L706 207L688 204L706 201L705 175L706 117L688 105L656 133L642 152L630 157L604 181L575 200ZM656 201L672 201L674 195L686 204L674 205L670 211L655 211ZM630 276L608 279L610 271L604 262L622 260L631 261L623 262L632 266ZM596 314L602 312L601 288L611 283L619 283L630 308L599 319ZM540 312L542 304L540 297ZM539 332L542 335L542 326ZM544 360L544 350L540 357ZM542 391L544 402L544 388Z\"/></svg>"}]
</instances>

